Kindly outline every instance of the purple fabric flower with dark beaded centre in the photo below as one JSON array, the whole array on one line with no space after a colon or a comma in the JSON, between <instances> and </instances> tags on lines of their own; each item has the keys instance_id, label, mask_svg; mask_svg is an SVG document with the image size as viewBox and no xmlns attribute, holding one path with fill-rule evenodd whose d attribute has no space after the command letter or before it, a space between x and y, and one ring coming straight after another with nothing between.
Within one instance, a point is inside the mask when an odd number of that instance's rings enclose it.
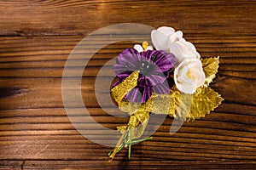
<instances>
[{"instance_id":1,"label":"purple fabric flower with dark beaded centre","mask_svg":"<svg viewBox=\"0 0 256 170\"><path fill-rule=\"evenodd\" d=\"M167 54L165 51L148 50L139 53L135 48L125 49L119 54L116 65L113 65L114 74L119 78L113 87L123 82L133 71L140 71L137 87L131 89L125 95L125 99L144 103L153 92L155 94L169 93L173 86L173 79L170 75L174 65L174 54Z\"/></svg>"}]
</instances>

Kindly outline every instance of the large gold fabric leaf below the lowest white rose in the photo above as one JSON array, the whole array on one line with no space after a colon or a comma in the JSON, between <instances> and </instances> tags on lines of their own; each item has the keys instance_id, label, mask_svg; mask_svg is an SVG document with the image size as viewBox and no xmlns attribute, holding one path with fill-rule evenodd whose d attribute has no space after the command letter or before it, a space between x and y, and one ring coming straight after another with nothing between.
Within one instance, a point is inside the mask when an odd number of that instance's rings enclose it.
<instances>
[{"instance_id":1,"label":"large gold fabric leaf below the lowest white rose","mask_svg":"<svg viewBox=\"0 0 256 170\"><path fill-rule=\"evenodd\" d=\"M204 117L224 100L212 88L205 86L197 88L194 94L181 94L179 99L175 117L184 121Z\"/></svg>"}]
</instances>

